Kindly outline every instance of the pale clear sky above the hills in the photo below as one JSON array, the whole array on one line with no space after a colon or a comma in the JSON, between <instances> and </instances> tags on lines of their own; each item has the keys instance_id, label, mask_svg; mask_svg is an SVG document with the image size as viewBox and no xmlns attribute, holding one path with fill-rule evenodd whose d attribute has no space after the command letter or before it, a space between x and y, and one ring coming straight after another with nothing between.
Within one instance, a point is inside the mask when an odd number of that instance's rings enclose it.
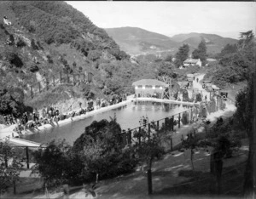
<instances>
[{"instance_id":1,"label":"pale clear sky above the hills","mask_svg":"<svg viewBox=\"0 0 256 199\"><path fill-rule=\"evenodd\" d=\"M67 2L101 28L139 27L172 37L199 32L238 38L256 31L255 2Z\"/></svg>"}]
</instances>

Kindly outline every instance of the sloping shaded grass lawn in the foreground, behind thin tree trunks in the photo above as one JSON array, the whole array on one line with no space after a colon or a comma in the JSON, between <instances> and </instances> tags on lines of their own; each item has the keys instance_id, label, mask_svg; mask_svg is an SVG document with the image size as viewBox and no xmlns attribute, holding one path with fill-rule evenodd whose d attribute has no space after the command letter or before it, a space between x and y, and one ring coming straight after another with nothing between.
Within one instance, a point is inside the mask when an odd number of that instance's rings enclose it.
<instances>
[{"instance_id":1,"label":"sloping shaded grass lawn in the foreground, behind thin tree trunks","mask_svg":"<svg viewBox=\"0 0 256 199\"><path fill-rule=\"evenodd\" d=\"M224 160L222 195L241 197L243 173L247 160L247 149L242 147L236 156ZM190 152L174 151L162 160L154 162L153 190L148 196L147 173L141 168L137 172L115 179L101 181L96 189L98 198L184 198L214 197L211 193L210 156L207 151L196 151L195 170L191 170ZM75 193L70 198L79 198ZM219 197L219 196L218 196Z\"/></svg>"}]
</instances>

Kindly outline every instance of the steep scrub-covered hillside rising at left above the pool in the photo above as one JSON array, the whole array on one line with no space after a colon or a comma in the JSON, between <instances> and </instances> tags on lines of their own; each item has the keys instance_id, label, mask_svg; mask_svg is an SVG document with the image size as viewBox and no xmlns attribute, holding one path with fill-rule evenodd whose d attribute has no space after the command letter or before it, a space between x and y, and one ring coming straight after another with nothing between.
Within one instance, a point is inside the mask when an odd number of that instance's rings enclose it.
<instances>
[{"instance_id":1,"label":"steep scrub-covered hillside rising at left above the pool","mask_svg":"<svg viewBox=\"0 0 256 199\"><path fill-rule=\"evenodd\" d=\"M10 25L3 22L3 16ZM25 98L30 85L59 77L60 72L71 76L91 72L95 78L90 90L98 96L104 95L103 88L108 90L105 94L113 94L116 83L106 82L106 70L112 70L106 69L108 65L120 74L122 67L133 70L130 56L120 51L107 32L65 2L0 2L0 19L0 86L20 88ZM127 81L123 78L130 85ZM83 85L80 90L83 94Z\"/></svg>"}]
</instances>

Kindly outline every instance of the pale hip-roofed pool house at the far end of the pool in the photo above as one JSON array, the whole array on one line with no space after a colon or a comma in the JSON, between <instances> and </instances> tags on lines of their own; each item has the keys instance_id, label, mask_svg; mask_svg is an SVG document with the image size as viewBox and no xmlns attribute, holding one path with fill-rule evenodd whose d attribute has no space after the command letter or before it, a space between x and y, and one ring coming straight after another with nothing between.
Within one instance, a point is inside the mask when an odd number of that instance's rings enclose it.
<instances>
[{"instance_id":1,"label":"pale hip-roofed pool house at the far end of the pool","mask_svg":"<svg viewBox=\"0 0 256 199\"><path fill-rule=\"evenodd\" d=\"M156 97L162 98L164 91L169 87L165 82L156 79L142 79L133 82L132 86L135 87L135 94L137 97Z\"/></svg>"}]
</instances>

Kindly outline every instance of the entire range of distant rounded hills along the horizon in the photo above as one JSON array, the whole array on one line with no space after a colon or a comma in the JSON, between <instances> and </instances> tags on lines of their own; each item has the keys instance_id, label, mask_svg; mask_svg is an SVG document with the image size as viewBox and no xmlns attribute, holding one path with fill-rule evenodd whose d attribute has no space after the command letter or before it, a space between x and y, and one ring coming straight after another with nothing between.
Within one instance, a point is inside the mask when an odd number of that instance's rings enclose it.
<instances>
[{"instance_id":1,"label":"entire range of distant rounded hills along the horizon","mask_svg":"<svg viewBox=\"0 0 256 199\"><path fill-rule=\"evenodd\" d=\"M119 44L120 48L128 54L157 54L165 51L175 54L177 48L182 46L183 43L188 43L192 52L194 48L197 48L202 39L207 43L208 53L218 54L226 44L237 43L236 39L195 32L167 37L137 27L107 28L105 30Z\"/></svg>"}]
</instances>

